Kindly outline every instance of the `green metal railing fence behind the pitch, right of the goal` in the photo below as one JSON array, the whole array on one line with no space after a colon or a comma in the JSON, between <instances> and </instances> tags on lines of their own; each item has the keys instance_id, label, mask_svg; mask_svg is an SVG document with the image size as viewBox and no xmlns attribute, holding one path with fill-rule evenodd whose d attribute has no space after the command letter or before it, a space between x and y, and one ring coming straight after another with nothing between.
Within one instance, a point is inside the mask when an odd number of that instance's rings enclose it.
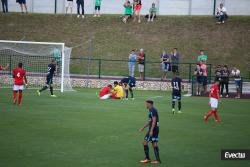
<instances>
[{"instance_id":1,"label":"green metal railing fence behind the pitch, right of the goal","mask_svg":"<svg viewBox=\"0 0 250 167\"><path fill-rule=\"evenodd\" d=\"M196 64L193 62L180 62L178 71L183 79L191 82ZM122 77L128 76L127 60L71 58L70 73L72 76L82 77ZM208 80L211 80L212 65L207 64ZM139 77L138 67L135 68L135 76ZM145 61L144 76L146 80L160 80L162 76L161 62ZM172 78L173 73L167 73L167 79Z\"/></svg>"}]
</instances>

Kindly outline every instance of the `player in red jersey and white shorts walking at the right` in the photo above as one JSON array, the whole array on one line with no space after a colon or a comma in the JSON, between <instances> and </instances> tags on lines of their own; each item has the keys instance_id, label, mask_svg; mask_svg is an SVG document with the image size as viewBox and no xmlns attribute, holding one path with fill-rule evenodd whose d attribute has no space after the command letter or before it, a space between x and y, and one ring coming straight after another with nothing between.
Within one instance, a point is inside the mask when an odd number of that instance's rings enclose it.
<instances>
[{"instance_id":1,"label":"player in red jersey and white shorts walking at the right","mask_svg":"<svg viewBox=\"0 0 250 167\"><path fill-rule=\"evenodd\" d=\"M213 114L215 121L217 123L220 123L219 117L217 115L217 108L218 108L218 103L219 103L219 81L215 81L215 83L211 86L210 89L210 106L211 106L211 111L207 113L207 115L204 116L204 120L208 121L209 117Z\"/></svg>"}]
</instances>

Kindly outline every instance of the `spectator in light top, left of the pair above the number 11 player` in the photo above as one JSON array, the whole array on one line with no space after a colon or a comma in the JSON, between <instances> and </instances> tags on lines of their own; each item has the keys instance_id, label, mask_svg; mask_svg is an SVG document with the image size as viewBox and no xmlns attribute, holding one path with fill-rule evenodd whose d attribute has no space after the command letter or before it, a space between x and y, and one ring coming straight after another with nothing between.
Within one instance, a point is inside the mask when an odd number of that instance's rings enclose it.
<instances>
[{"instance_id":1,"label":"spectator in light top, left of the pair above the number 11 player","mask_svg":"<svg viewBox=\"0 0 250 167\"><path fill-rule=\"evenodd\" d=\"M164 81L167 78L167 72L170 69L170 56L167 54L165 50L163 50L161 54L161 69L162 69L161 80Z\"/></svg>"}]
</instances>

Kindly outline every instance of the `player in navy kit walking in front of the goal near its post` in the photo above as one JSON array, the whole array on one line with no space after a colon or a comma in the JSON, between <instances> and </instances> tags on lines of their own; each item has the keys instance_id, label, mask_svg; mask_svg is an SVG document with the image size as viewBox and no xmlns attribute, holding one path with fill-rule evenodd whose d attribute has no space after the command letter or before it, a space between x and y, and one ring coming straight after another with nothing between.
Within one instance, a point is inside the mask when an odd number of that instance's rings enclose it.
<instances>
[{"instance_id":1,"label":"player in navy kit walking in front of the goal near its post","mask_svg":"<svg viewBox=\"0 0 250 167\"><path fill-rule=\"evenodd\" d=\"M42 91L49 88L51 97L56 97L56 95L54 95L53 93L53 77L54 77L55 71L56 71L56 61L55 59L52 59L51 63L48 65L48 72L46 75L46 85L42 89L37 91L38 96L41 95Z\"/></svg>"}]
</instances>

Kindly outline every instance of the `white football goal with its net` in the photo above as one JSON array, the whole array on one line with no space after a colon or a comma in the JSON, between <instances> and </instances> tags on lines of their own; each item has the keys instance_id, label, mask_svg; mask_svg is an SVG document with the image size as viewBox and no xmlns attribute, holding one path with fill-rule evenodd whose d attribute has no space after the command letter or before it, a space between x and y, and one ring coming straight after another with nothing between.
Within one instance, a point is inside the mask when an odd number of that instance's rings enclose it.
<instances>
[{"instance_id":1,"label":"white football goal with its net","mask_svg":"<svg viewBox=\"0 0 250 167\"><path fill-rule=\"evenodd\" d=\"M0 40L0 65L9 65L0 71L1 87L12 86L12 70L22 62L27 71L29 88L39 89L45 84L47 66L51 59L57 62L53 86L61 92L73 90L70 80L71 48L64 43Z\"/></svg>"}]
</instances>

